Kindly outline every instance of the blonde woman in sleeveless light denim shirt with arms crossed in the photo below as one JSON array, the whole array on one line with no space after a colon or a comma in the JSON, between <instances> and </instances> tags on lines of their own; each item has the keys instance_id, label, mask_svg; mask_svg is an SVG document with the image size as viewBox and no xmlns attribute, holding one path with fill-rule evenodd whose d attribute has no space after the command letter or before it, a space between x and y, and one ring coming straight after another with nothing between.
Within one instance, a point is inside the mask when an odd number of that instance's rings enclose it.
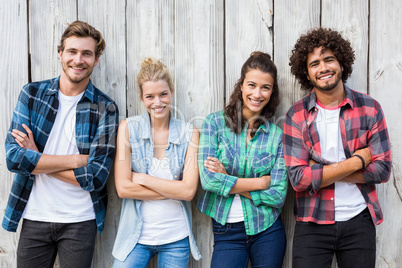
<instances>
[{"instance_id":1,"label":"blonde woman in sleeveless light denim shirt with arms crossed","mask_svg":"<svg viewBox=\"0 0 402 268\"><path fill-rule=\"evenodd\" d=\"M146 58L137 83L147 112L120 123L115 183L123 198L113 267L187 267L201 258L191 227L198 185L199 132L171 115L173 81L159 60Z\"/></svg>"}]
</instances>

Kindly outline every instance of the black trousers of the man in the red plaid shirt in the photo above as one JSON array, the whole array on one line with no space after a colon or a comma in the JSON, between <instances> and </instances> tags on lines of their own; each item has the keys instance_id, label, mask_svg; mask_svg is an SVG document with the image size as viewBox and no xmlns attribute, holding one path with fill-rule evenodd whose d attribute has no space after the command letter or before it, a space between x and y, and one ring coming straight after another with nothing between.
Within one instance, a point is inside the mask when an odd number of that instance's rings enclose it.
<instances>
[{"instance_id":1,"label":"black trousers of the man in the red plaid shirt","mask_svg":"<svg viewBox=\"0 0 402 268\"><path fill-rule=\"evenodd\" d=\"M335 224L296 222L293 267L375 267L376 232L368 209Z\"/></svg>"}]
</instances>

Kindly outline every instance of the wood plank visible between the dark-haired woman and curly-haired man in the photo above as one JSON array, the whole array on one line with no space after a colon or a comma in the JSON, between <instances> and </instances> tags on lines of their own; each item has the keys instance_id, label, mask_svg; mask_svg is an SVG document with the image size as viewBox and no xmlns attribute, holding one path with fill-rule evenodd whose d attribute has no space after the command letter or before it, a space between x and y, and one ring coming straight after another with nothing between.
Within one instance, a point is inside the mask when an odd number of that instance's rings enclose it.
<instances>
[{"instance_id":1,"label":"wood plank visible between the dark-haired woman and curly-haired man","mask_svg":"<svg viewBox=\"0 0 402 268\"><path fill-rule=\"evenodd\" d=\"M304 96L299 83L290 73L289 56L300 35L319 26L320 1L275 1L274 6L274 61L278 68L281 93L281 104L276 113L276 124L283 127L284 116L289 107ZM293 201L294 191L289 185L282 213L288 240L283 267L292 267L292 241L295 226Z\"/></svg>"}]
</instances>

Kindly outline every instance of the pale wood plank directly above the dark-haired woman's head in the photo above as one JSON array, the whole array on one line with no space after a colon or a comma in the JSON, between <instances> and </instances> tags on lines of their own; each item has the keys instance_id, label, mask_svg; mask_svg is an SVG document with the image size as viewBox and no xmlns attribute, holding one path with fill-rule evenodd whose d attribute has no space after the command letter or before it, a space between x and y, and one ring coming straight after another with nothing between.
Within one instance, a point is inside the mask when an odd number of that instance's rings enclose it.
<instances>
[{"instance_id":1,"label":"pale wood plank directly above the dark-haired woman's head","mask_svg":"<svg viewBox=\"0 0 402 268\"><path fill-rule=\"evenodd\" d=\"M243 63L253 51L273 53L273 1L225 2L226 103L240 78Z\"/></svg>"}]
</instances>

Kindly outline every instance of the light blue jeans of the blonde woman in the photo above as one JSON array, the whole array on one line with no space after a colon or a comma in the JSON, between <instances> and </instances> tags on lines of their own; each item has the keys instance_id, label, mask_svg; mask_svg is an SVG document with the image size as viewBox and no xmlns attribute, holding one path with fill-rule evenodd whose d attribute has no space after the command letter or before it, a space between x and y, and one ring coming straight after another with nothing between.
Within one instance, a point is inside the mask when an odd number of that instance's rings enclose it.
<instances>
[{"instance_id":1,"label":"light blue jeans of the blonde woman","mask_svg":"<svg viewBox=\"0 0 402 268\"><path fill-rule=\"evenodd\" d=\"M190 257L188 237L169 244L148 246L136 244L124 262L115 260L113 268L146 268L158 254L158 267L186 268Z\"/></svg>"}]
</instances>

